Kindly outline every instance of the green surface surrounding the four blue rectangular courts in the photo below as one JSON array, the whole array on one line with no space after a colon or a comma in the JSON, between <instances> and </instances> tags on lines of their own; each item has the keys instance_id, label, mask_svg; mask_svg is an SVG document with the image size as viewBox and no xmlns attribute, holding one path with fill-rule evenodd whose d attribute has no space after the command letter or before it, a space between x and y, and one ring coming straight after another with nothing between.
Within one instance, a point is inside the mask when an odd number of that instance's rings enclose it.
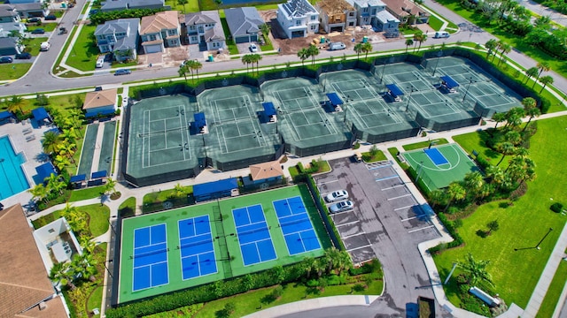
<instances>
[{"instance_id":1,"label":"green surface surrounding the four blue rectangular courts","mask_svg":"<svg viewBox=\"0 0 567 318\"><path fill-rule=\"evenodd\" d=\"M290 255L272 202L296 196L301 197L303 200L322 248L302 254ZM236 234L237 228L232 210L257 204L260 204L263 209L277 258L272 261L263 261L245 266ZM209 216L211 235L214 238L213 246L217 272L183 280L184 269L179 249L180 232L178 230L178 221L197 216ZM158 224L165 224L167 228L168 283L133 292L134 259L132 256L134 255L134 232L136 229ZM233 276L271 269L277 265L301 261L307 256L317 257L324 253L323 249L331 246L329 236L325 231L307 186L290 186L150 215L130 217L122 220L121 229L119 303L144 299L199 284L212 283Z\"/></svg>"}]
</instances>

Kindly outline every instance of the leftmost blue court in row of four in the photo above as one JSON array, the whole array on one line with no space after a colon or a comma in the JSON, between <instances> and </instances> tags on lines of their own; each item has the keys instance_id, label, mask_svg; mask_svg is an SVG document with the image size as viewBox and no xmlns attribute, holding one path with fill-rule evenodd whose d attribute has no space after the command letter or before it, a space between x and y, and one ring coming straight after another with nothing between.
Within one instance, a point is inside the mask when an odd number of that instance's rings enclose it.
<instances>
[{"instance_id":1,"label":"leftmost blue court in row of four","mask_svg":"<svg viewBox=\"0 0 567 318\"><path fill-rule=\"evenodd\" d=\"M134 230L133 291L169 284L166 224Z\"/></svg>"}]
</instances>

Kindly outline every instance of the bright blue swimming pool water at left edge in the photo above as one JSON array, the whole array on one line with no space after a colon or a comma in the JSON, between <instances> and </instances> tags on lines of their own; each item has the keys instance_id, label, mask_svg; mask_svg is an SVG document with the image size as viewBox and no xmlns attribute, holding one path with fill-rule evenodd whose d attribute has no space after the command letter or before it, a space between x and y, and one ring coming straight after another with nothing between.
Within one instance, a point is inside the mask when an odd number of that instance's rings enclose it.
<instances>
[{"instance_id":1,"label":"bright blue swimming pool water at left edge","mask_svg":"<svg viewBox=\"0 0 567 318\"><path fill-rule=\"evenodd\" d=\"M16 155L8 136L0 137L0 200L29 189L21 164L24 154Z\"/></svg>"}]
</instances>

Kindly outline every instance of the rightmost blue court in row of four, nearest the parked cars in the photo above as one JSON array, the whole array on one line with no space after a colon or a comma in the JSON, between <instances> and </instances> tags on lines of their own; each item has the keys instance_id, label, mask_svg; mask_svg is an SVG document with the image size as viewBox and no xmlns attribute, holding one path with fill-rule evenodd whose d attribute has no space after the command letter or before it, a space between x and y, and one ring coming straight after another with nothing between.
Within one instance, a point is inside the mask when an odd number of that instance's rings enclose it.
<instances>
[{"instance_id":1,"label":"rightmost blue court in row of four, nearest the parked cars","mask_svg":"<svg viewBox=\"0 0 567 318\"><path fill-rule=\"evenodd\" d=\"M278 200L273 204L290 255L321 248L301 197Z\"/></svg>"}]
</instances>

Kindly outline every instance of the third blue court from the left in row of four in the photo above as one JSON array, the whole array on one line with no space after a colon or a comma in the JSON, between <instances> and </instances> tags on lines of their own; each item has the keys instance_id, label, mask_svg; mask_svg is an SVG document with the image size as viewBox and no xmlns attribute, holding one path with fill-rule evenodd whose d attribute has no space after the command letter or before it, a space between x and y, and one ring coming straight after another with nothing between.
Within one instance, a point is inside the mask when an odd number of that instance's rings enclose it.
<instances>
[{"instance_id":1,"label":"third blue court from the left in row of four","mask_svg":"<svg viewBox=\"0 0 567 318\"><path fill-rule=\"evenodd\" d=\"M232 210L245 266L276 260L276 250L260 204Z\"/></svg>"}]
</instances>

